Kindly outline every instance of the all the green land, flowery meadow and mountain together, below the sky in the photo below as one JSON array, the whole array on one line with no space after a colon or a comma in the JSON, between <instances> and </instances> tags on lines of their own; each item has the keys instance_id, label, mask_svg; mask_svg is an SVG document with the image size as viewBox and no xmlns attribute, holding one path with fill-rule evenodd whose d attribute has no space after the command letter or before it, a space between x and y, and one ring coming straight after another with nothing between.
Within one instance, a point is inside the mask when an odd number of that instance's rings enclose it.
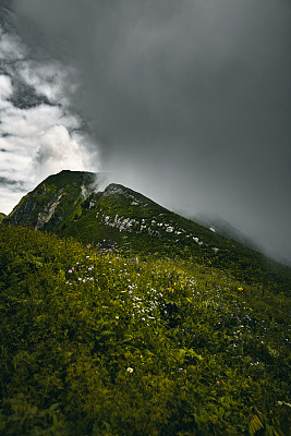
<instances>
[{"instance_id":1,"label":"all the green land, flowery meadow and mountain together, below the sky","mask_svg":"<svg viewBox=\"0 0 291 436\"><path fill-rule=\"evenodd\" d=\"M1 435L290 434L288 266L100 173L1 220Z\"/></svg>"}]
</instances>

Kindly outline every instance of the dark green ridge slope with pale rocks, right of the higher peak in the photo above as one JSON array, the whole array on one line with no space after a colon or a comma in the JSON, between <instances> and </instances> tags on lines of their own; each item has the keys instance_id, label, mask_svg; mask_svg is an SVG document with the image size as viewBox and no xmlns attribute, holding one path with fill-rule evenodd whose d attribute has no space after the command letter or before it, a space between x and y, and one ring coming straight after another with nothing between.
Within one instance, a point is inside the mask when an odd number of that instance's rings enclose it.
<instances>
[{"instance_id":1,"label":"dark green ridge slope with pale rocks, right of the higher peak","mask_svg":"<svg viewBox=\"0 0 291 436\"><path fill-rule=\"evenodd\" d=\"M267 259L245 245L165 209L134 191L121 187L125 195L122 193L93 194L84 202L82 214L68 225L62 234L72 235L86 243L102 243L106 239L116 242L128 254L153 255L156 253L157 257L192 259L201 265L227 270L238 279L247 280L250 283L264 288L291 289L291 268ZM132 205L133 199L140 204ZM89 205L93 206L89 207ZM112 223L116 216L135 219L138 223L131 227L131 232L120 231L117 227L105 223L105 217L110 217ZM160 227L160 223L163 226ZM141 226L143 226L142 231ZM183 231L181 234L174 231L167 232L167 226ZM154 234L149 234L149 229ZM158 237L157 233L159 233ZM198 237L203 244L194 242L193 237Z\"/></svg>"}]
</instances>

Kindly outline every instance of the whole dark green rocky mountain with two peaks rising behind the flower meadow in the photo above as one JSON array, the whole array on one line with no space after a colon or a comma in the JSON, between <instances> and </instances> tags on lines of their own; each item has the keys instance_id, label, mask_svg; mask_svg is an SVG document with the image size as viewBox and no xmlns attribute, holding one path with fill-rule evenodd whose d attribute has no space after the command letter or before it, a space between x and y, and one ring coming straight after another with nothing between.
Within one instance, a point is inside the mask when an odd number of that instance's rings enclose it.
<instances>
[{"instance_id":1,"label":"whole dark green rocky mountain with two peaks rising behind the flower meadow","mask_svg":"<svg viewBox=\"0 0 291 436\"><path fill-rule=\"evenodd\" d=\"M104 179L101 173L78 171L50 175L3 222L73 237L129 256L181 258L252 283L290 287L290 268L121 184L101 191Z\"/></svg>"}]
</instances>

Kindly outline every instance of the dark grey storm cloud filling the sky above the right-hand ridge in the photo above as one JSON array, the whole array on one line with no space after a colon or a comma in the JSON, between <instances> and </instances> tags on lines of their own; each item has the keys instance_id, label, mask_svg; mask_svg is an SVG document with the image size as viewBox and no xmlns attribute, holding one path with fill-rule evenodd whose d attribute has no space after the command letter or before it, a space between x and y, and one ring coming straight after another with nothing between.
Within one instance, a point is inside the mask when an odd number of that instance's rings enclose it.
<instances>
[{"instance_id":1,"label":"dark grey storm cloud filling the sky above the right-hand ridge","mask_svg":"<svg viewBox=\"0 0 291 436\"><path fill-rule=\"evenodd\" d=\"M163 204L215 211L291 258L290 2L15 0L105 167ZM290 233L290 232L289 232Z\"/></svg>"}]
</instances>

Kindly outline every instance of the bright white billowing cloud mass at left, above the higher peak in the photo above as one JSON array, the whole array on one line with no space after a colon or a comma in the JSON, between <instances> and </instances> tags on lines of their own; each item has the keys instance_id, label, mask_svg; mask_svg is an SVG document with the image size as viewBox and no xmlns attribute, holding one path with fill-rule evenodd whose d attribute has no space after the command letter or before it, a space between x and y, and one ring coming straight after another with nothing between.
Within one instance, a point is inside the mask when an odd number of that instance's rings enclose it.
<instances>
[{"instance_id":1,"label":"bright white billowing cloud mass at left, above the higher peak","mask_svg":"<svg viewBox=\"0 0 291 436\"><path fill-rule=\"evenodd\" d=\"M5 73L0 75L0 211L10 213L23 189L33 190L49 174L99 168L96 150L89 152L95 147L80 130L82 120L70 111L66 95L76 87L74 71L56 60L27 59L20 38L1 28L0 59L5 61ZM24 93L33 87L49 104L22 107L21 96L20 104L13 100L20 85Z\"/></svg>"}]
</instances>

